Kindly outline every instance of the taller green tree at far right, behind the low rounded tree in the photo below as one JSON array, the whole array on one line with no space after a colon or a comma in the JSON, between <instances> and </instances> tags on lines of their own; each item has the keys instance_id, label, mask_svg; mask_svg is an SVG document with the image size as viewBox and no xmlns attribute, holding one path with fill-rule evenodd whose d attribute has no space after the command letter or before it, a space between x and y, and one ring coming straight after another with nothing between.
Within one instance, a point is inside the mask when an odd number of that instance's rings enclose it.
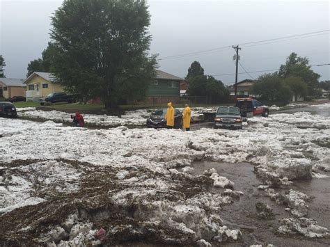
<instances>
[{"instance_id":1,"label":"taller green tree at far right, behind the low rounded tree","mask_svg":"<svg viewBox=\"0 0 330 247\"><path fill-rule=\"evenodd\" d=\"M283 79L288 77L301 77L301 79L307 84L306 95L315 96L317 95L320 74L311 70L311 66L308 65L308 63L308 58L303 58L292 52L292 54L286 59L285 64L281 65L278 70L278 75Z\"/></svg>"}]
</instances>

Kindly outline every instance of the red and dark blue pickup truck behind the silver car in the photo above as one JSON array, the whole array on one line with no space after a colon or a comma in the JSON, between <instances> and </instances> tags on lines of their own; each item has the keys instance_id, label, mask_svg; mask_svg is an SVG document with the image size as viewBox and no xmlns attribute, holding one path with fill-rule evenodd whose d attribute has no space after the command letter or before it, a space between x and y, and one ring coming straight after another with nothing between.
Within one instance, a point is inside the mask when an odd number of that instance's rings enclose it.
<instances>
[{"instance_id":1,"label":"red and dark blue pickup truck behind the silver car","mask_svg":"<svg viewBox=\"0 0 330 247\"><path fill-rule=\"evenodd\" d=\"M243 118L251 118L254 115L262 115L267 118L269 114L269 109L267 106L256 99L252 99L251 97L237 99L236 106L241 111Z\"/></svg>"}]
</instances>

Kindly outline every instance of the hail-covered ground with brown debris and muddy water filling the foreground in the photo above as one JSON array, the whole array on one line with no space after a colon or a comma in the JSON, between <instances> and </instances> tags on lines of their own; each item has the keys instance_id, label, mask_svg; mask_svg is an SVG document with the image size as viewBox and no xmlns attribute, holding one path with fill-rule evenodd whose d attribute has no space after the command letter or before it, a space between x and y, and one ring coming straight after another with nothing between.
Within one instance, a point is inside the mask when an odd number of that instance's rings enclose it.
<instances>
[{"instance_id":1,"label":"hail-covered ground with brown debris and muddy water filling the foreground","mask_svg":"<svg viewBox=\"0 0 330 247\"><path fill-rule=\"evenodd\" d=\"M256 178L245 186L246 166ZM318 205L322 194L301 181L329 188L329 175L329 114L281 113L251 118L242 130L191 132L0 118L0 243L246 246L278 244L276 237L283 246L328 246L329 204ZM329 198L329 189L322 193ZM230 211L243 212L246 198L255 225ZM267 225L270 234L259 238Z\"/></svg>"}]
</instances>

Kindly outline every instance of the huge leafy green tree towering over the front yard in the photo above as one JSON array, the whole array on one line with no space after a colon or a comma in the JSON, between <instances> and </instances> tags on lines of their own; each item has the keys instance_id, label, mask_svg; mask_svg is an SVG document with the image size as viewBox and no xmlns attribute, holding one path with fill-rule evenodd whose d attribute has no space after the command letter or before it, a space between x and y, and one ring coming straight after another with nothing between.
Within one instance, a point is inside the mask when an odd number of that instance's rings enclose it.
<instances>
[{"instance_id":1,"label":"huge leafy green tree towering over the front yard","mask_svg":"<svg viewBox=\"0 0 330 247\"><path fill-rule=\"evenodd\" d=\"M155 78L146 1L68 0L52 17L52 72L85 99L100 96L107 109L143 99Z\"/></svg>"}]
</instances>

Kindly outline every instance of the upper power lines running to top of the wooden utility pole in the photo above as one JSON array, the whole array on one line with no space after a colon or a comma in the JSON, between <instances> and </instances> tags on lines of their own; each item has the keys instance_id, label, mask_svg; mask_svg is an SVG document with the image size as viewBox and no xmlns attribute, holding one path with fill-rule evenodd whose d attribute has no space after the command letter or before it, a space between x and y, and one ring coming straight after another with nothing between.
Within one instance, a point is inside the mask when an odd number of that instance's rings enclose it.
<instances>
[{"instance_id":1,"label":"upper power lines running to top of the wooden utility pole","mask_svg":"<svg viewBox=\"0 0 330 247\"><path fill-rule=\"evenodd\" d=\"M324 33L324 32L329 32L329 31L330 31L330 29L323 30L323 31L315 31L315 32L311 32L311 33L301 33L301 34L290 35L290 36L285 36L285 37L281 37L281 38L272 38L272 39L268 39L268 40L245 42L245 43L242 43L241 45L249 45L249 46L245 46L245 47L252 47L252 46L256 46L256 45L250 45L250 44L267 42L267 43L263 43L263 44L258 44L258 45L266 45L266 44L271 44L271 43L274 43L274 42L288 41L288 40L301 39L301 38L309 38L309 37L313 37L313 36L316 36L316 35L324 35L324 34L328 34L328 33ZM316 33L318 33L318 34L316 34ZM298 37L298 38L294 38L294 37ZM288 39L288 38L290 38L290 39ZM288 40L283 40L283 39L288 39ZM274 41L274 42L268 42L268 41ZM217 47L217 48L214 48L214 49L207 49L207 50L203 50L203 51L194 51L194 52L189 52L189 53L185 53L185 54L178 54L178 55L173 55L173 56L164 56L164 57L161 57L159 59L162 60L162 59L169 59L169 58L183 58L185 56L193 56L193 55L196 55L196 54L205 54L205 53L210 52L210 51L219 51L219 50L222 50L222 49L229 49L230 47L231 47L231 45L226 45L226 46L223 46L223 47Z\"/></svg>"}]
</instances>

